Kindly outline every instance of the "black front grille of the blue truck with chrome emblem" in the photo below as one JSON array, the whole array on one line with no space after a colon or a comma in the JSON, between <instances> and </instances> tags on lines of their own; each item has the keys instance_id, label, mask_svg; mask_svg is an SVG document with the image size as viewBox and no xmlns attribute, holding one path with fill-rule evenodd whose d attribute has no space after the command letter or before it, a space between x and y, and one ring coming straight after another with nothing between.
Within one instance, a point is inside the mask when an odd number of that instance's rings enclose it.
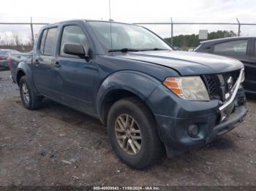
<instances>
[{"instance_id":1,"label":"black front grille of the blue truck with chrome emblem","mask_svg":"<svg viewBox=\"0 0 256 191\"><path fill-rule=\"evenodd\" d=\"M211 99L221 98L225 101L225 93L228 93L236 84L240 70L226 72L224 74L204 75L206 87Z\"/></svg>"}]
</instances>

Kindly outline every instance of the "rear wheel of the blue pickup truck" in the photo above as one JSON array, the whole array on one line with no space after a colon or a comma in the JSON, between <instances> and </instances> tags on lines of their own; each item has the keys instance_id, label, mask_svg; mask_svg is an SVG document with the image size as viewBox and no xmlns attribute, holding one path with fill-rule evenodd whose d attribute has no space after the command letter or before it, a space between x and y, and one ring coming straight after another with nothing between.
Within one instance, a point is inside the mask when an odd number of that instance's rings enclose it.
<instances>
[{"instance_id":1,"label":"rear wheel of the blue pickup truck","mask_svg":"<svg viewBox=\"0 0 256 191\"><path fill-rule=\"evenodd\" d=\"M42 96L34 93L26 76L20 78L20 98L26 109L38 109L42 106Z\"/></svg>"}]
</instances>

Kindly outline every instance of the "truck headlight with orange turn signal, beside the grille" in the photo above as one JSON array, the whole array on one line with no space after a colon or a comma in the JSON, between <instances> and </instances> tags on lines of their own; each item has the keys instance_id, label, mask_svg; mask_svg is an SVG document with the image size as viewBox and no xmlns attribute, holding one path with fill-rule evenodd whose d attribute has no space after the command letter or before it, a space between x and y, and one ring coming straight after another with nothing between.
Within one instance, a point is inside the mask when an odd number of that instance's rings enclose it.
<instances>
[{"instance_id":1,"label":"truck headlight with orange turn signal, beside the grille","mask_svg":"<svg viewBox=\"0 0 256 191\"><path fill-rule=\"evenodd\" d=\"M180 98L209 101L208 91L200 77L167 77L163 84Z\"/></svg>"}]
</instances>

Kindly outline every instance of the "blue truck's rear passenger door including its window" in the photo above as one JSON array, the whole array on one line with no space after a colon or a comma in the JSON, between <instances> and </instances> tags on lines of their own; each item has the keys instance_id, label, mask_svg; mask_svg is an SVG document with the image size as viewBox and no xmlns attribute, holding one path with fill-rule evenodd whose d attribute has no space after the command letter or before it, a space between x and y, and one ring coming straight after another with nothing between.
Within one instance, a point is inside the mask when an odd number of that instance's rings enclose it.
<instances>
[{"instance_id":1,"label":"blue truck's rear passenger door including its window","mask_svg":"<svg viewBox=\"0 0 256 191\"><path fill-rule=\"evenodd\" d=\"M53 98L55 88L53 87L52 61L56 47L56 36L58 28L46 28L39 36L37 52L33 58L34 82L42 95Z\"/></svg>"}]
</instances>

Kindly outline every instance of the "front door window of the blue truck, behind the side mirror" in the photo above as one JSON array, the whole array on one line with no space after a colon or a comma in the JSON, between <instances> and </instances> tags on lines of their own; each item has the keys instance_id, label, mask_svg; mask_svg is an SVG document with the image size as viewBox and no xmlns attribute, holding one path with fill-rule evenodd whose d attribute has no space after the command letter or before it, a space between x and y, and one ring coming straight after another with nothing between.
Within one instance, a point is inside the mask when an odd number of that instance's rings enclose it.
<instances>
[{"instance_id":1,"label":"front door window of the blue truck, behind the side mirror","mask_svg":"<svg viewBox=\"0 0 256 191\"><path fill-rule=\"evenodd\" d=\"M86 50L87 39L86 35L83 33L79 26L65 26L63 34L61 36L61 47L60 55L66 57L78 58L76 55L68 55L63 52L63 47L65 43L77 43L83 45L83 49Z\"/></svg>"}]
</instances>

